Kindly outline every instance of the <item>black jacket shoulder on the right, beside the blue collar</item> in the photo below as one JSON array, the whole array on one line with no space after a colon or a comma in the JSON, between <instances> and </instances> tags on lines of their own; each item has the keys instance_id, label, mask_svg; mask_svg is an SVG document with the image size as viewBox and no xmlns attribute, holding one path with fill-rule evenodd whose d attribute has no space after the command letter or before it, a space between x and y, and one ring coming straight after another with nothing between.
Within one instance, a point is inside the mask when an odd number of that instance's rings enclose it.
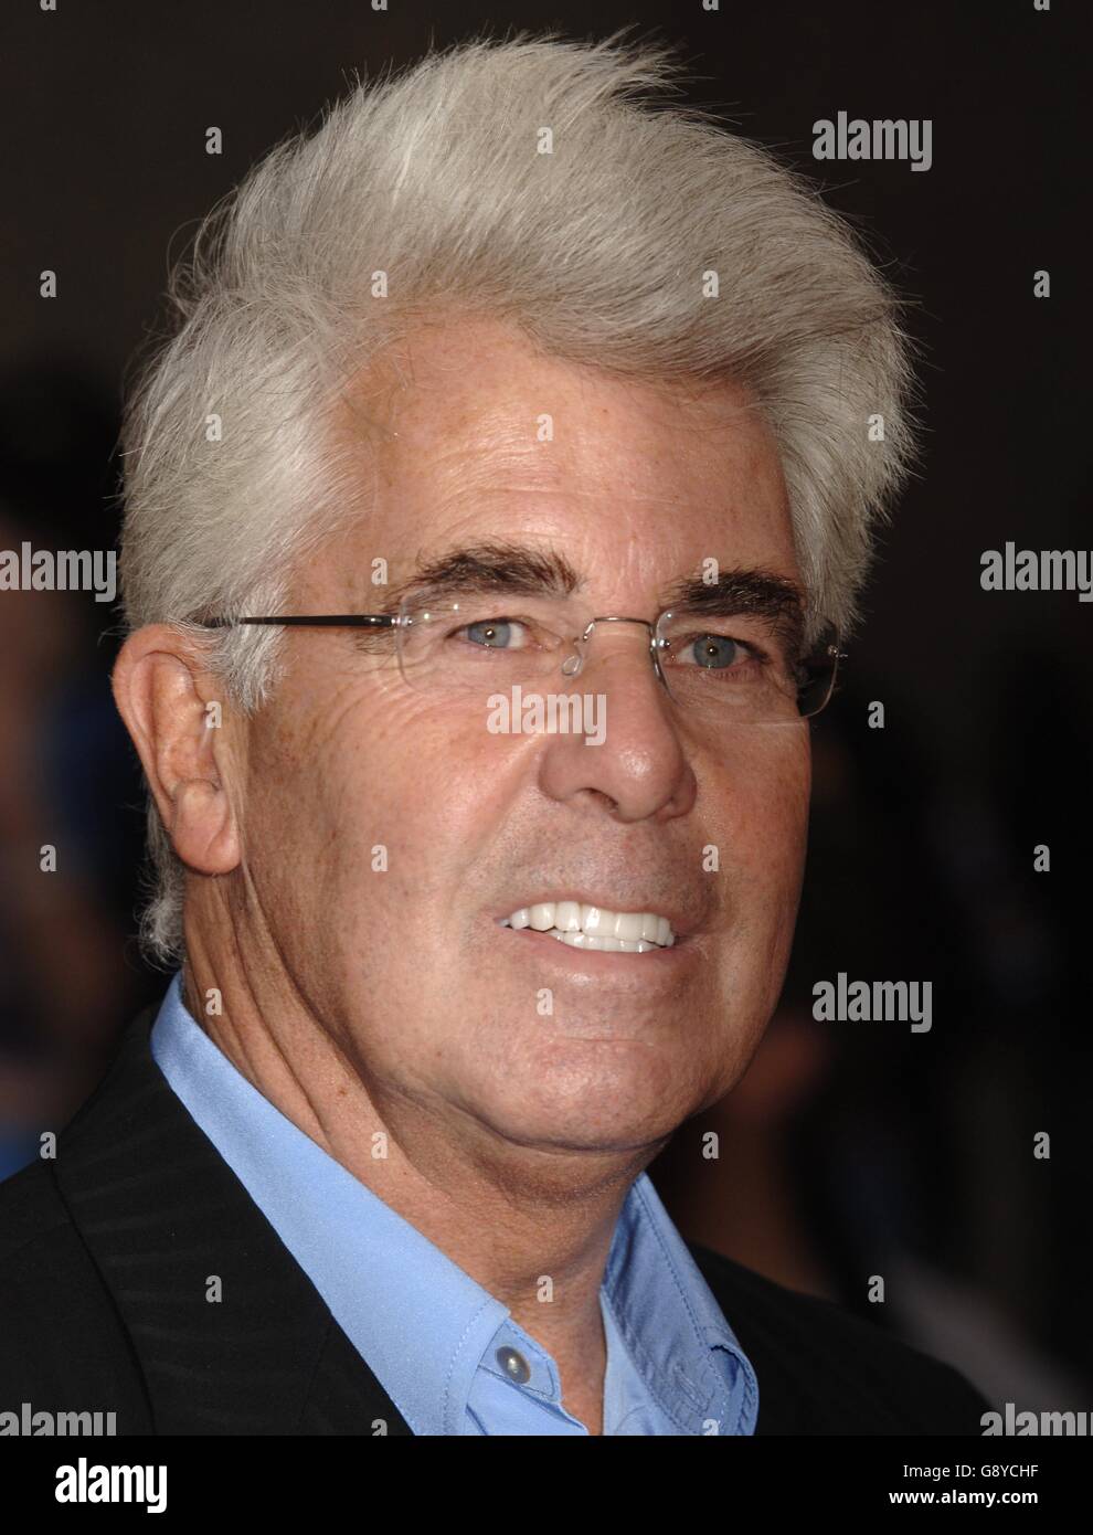
<instances>
[{"instance_id":1,"label":"black jacket shoulder on the right, beside the blue collar","mask_svg":"<svg viewBox=\"0 0 1093 1535\"><path fill-rule=\"evenodd\" d=\"M757 1434L982 1434L990 1403L950 1365L711 1248L691 1254L755 1369Z\"/></svg>"}]
</instances>

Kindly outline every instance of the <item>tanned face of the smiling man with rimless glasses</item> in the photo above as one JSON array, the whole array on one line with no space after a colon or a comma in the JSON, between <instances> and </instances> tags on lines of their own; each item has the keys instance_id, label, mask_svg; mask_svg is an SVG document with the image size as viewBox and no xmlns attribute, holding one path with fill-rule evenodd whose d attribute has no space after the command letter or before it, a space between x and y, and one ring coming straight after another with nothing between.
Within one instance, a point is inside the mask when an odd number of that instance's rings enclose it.
<instances>
[{"instance_id":1,"label":"tanned face of the smiling man with rimless glasses","mask_svg":"<svg viewBox=\"0 0 1093 1535\"><path fill-rule=\"evenodd\" d=\"M364 444L365 419L368 511L309 562L293 612L375 612L375 559L401 583L499 542L562 553L586 619L652 619L711 557L800 585L774 441L731 387L669 394L464 319L355 384L341 430ZM599 746L490 731L480 698L407 686L393 640L384 657L348 629L284 634L286 678L250 726L249 876L295 993L381 1116L628 1150L722 1098L781 987L807 726L694 729L637 625L597 626L577 683L606 700ZM674 916L683 936L589 955L499 926L563 898Z\"/></svg>"}]
</instances>

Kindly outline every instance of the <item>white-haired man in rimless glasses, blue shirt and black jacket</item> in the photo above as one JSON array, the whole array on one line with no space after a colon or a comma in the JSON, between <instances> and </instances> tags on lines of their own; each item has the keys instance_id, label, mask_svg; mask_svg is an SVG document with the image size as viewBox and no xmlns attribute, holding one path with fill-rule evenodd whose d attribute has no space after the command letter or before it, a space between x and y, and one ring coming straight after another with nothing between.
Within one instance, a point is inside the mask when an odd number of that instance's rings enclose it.
<instances>
[{"instance_id":1,"label":"white-haired man in rimless glasses, blue shirt and black jacket","mask_svg":"<svg viewBox=\"0 0 1093 1535\"><path fill-rule=\"evenodd\" d=\"M777 1004L807 721L912 451L892 295L764 154L632 100L668 75L431 55L198 241L126 419L114 674L178 973L0 1191L0 1406L979 1432L645 1174Z\"/></svg>"}]
</instances>

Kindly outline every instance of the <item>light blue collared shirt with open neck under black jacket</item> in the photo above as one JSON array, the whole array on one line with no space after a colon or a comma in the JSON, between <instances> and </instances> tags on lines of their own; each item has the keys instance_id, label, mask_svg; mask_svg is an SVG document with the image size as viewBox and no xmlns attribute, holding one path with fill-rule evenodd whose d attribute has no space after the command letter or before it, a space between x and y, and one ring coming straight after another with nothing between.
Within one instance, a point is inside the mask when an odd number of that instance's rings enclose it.
<instances>
[{"instance_id":1,"label":"light blue collared shirt with open neck under black jacket","mask_svg":"<svg viewBox=\"0 0 1093 1535\"><path fill-rule=\"evenodd\" d=\"M414 1434L588 1434L551 1355L263 1098L187 1012L181 972L152 1055ZM755 1432L755 1372L645 1173L619 1214L600 1311L603 1434Z\"/></svg>"}]
</instances>

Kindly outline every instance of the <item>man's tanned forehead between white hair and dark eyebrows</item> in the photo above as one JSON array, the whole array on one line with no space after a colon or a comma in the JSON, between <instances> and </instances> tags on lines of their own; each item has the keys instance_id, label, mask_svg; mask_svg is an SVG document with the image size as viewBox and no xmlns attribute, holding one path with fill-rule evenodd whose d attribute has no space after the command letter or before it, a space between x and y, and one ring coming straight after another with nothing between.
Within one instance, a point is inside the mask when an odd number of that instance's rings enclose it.
<instances>
[{"instance_id":1,"label":"man's tanned forehead between white hair and dark eyebrows","mask_svg":"<svg viewBox=\"0 0 1093 1535\"><path fill-rule=\"evenodd\" d=\"M777 445L737 384L619 378L459 318L381 353L335 430L361 450L361 519L335 548L358 569L382 556L402 579L422 554L504 534L628 580L711 556L797 574Z\"/></svg>"}]
</instances>

